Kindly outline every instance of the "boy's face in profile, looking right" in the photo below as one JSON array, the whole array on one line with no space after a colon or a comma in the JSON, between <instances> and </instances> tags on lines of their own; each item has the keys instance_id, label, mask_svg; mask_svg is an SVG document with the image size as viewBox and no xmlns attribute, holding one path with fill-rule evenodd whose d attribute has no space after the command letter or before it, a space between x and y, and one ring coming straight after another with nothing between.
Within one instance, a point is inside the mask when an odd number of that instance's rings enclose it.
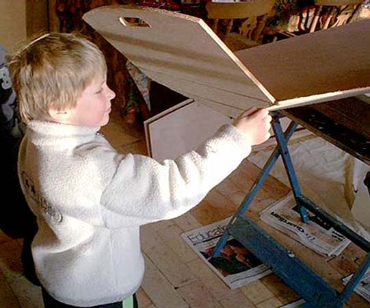
<instances>
[{"instance_id":1,"label":"boy's face in profile, looking right","mask_svg":"<svg viewBox=\"0 0 370 308\"><path fill-rule=\"evenodd\" d=\"M76 107L70 110L68 123L90 127L106 125L114 97L116 94L107 86L107 77L97 75L77 99Z\"/></svg>"}]
</instances>

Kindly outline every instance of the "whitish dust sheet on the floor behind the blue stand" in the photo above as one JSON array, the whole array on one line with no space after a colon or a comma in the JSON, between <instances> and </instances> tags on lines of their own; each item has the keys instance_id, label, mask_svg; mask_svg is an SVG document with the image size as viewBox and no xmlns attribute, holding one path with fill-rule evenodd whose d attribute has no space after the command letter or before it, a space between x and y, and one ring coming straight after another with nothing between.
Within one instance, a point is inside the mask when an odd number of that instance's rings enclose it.
<instances>
[{"instance_id":1,"label":"whitish dust sheet on the floor behind the blue stand","mask_svg":"<svg viewBox=\"0 0 370 308\"><path fill-rule=\"evenodd\" d=\"M271 153L270 147L262 148L253 151L248 159L263 168ZM334 214L347 227L351 227L365 238L370 238L369 232L365 231L365 228L370 229L370 225L364 224L363 220L362 224L358 223L361 219L354 217L351 211L356 199L360 198L369 207L366 209L362 204L360 212L363 215L365 208L365 212L370 216L370 197L368 193L363 194L366 191L361 187L365 186L362 182L370 166L318 137L289 144L289 153L304 196ZM281 157L270 175L290 187ZM358 196L356 191L362 192L361 196Z\"/></svg>"}]
</instances>

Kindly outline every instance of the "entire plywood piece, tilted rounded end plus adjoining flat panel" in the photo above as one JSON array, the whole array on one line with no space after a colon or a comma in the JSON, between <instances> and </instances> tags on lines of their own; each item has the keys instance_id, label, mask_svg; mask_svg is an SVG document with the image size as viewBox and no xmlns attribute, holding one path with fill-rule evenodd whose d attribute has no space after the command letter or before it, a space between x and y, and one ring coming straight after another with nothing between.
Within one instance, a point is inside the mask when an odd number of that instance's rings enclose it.
<instances>
[{"instance_id":1,"label":"entire plywood piece, tilted rounded end plus adjoining flat panel","mask_svg":"<svg viewBox=\"0 0 370 308\"><path fill-rule=\"evenodd\" d=\"M110 5L83 19L148 77L230 116L370 92L369 20L235 55L193 16Z\"/></svg>"}]
</instances>

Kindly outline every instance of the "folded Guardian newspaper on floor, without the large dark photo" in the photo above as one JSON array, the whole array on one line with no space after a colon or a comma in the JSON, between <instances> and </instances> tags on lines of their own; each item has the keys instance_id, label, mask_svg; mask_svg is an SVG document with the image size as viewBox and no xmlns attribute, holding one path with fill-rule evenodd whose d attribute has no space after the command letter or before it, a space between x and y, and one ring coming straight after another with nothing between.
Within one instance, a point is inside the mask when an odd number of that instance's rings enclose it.
<instances>
[{"instance_id":1,"label":"folded Guardian newspaper on floor, without the large dark photo","mask_svg":"<svg viewBox=\"0 0 370 308\"><path fill-rule=\"evenodd\" d=\"M261 220L320 255L337 256L351 242L319 217L308 212L308 223L302 222L293 194L261 211Z\"/></svg>"}]
</instances>

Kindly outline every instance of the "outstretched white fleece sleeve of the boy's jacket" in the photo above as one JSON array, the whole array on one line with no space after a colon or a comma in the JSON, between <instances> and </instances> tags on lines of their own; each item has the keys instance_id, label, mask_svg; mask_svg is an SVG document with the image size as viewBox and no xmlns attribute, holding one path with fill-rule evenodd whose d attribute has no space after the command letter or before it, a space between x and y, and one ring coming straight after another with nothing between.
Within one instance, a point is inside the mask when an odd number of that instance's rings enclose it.
<instances>
[{"instance_id":1,"label":"outstretched white fleece sleeve of the boy's jacket","mask_svg":"<svg viewBox=\"0 0 370 308\"><path fill-rule=\"evenodd\" d=\"M198 149L174 160L159 163L142 155L118 155L116 172L101 198L105 225L114 228L180 216L249 153L248 138L224 125Z\"/></svg>"}]
</instances>

